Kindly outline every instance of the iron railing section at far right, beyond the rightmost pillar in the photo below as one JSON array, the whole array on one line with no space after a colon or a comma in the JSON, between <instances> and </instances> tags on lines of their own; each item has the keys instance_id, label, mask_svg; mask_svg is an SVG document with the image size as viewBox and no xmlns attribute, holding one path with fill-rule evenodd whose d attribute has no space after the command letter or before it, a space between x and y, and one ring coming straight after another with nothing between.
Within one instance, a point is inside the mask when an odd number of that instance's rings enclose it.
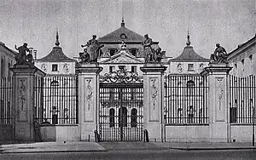
<instances>
[{"instance_id":1,"label":"iron railing section at far right, beyond the rightmost pillar","mask_svg":"<svg viewBox=\"0 0 256 160\"><path fill-rule=\"evenodd\" d=\"M230 75L230 123L253 123L256 78ZM254 116L255 117L255 116Z\"/></svg>"}]
</instances>

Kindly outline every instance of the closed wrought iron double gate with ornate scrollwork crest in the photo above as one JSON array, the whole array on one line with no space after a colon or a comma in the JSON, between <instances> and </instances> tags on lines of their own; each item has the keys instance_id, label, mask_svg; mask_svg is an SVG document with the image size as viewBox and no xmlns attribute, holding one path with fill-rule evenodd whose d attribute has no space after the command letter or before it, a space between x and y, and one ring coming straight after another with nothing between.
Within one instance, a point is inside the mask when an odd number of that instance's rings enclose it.
<instances>
[{"instance_id":1,"label":"closed wrought iron double gate with ornate scrollwork crest","mask_svg":"<svg viewBox=\"0 0 256 160\"><path fill-rule=\"evenodd\" d=\"M99 129L102 141L143 140L143 83L121 69L100 82Z\"/></svg>"}]
</instances>

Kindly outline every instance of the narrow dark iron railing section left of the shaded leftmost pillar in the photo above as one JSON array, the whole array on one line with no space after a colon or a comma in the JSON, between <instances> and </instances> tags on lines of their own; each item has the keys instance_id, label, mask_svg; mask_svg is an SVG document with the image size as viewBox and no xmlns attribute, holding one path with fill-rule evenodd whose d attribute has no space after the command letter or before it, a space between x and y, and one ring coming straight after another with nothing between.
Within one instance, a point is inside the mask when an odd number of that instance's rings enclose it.
<instances>
[{"instance_id":1,"label":"narrow dark iron railing section left of the shaded leftmost pillar","mask_svg":"<svg viewBox=\"0 0 256 160\"><path fill-rule=\"evenodd\" d=\"M0 81L0 124L10 124L12 123L13 78L3 77Z\"/></svg>"}]
</instances>

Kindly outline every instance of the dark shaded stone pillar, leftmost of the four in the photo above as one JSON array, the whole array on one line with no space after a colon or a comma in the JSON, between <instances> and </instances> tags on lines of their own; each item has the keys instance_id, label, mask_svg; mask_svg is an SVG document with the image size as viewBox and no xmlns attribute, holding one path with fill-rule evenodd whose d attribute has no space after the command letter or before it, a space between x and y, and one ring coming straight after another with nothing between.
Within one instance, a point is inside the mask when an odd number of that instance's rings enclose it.
<instances>
[{"instance_id":1,"label":"dark shaded stone pillar, leftmost of the four","mask_svg":"<svg viewBox=\"0 0 256 160\"><path fill-rule=\"evenodd\" d=\"M44 72L35 66L16 65L14 72L13 122L15 140L34 140L34 84L35 76L44 77Z\"/></svg>"}]
</instances>

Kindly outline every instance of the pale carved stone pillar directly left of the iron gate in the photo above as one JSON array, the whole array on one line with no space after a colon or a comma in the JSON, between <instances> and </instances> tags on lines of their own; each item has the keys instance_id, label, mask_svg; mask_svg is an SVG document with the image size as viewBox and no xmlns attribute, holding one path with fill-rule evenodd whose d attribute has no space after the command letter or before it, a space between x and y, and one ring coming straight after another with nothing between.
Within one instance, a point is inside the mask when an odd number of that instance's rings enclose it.
<instances>
[{"instance_id":1,"label":"pale carved stone pillar directly left of the iron gate","mask_svg":"<svg viewBox=\"0 0 256 160\"><path fill-rule=\"evenodd\" d=\"M95 140L98 124L99 73L98 64L83 64L76 68L79 75L79 126L81 140Z\"/></svg>"}]
</instances>

